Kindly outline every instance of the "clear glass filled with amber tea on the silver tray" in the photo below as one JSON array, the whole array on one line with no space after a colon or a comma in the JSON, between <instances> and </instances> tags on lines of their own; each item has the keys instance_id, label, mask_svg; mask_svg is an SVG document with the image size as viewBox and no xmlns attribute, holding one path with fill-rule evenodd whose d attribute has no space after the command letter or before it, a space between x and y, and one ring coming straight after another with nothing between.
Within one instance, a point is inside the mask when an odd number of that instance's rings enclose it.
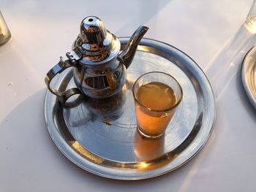
<instances>
[{"instance_id":1,"label":"clear glass filled with amber tea on the silver tray","mask_svg":"<svg viewBox=\"0 0 256 192\"><path fill-rule=\"evenodd\" d=\"M151 138L165 134L183 96L178 81L164 72L148 72L135 81L132 93L139 133Z\"/></svg>"}]
</instances>

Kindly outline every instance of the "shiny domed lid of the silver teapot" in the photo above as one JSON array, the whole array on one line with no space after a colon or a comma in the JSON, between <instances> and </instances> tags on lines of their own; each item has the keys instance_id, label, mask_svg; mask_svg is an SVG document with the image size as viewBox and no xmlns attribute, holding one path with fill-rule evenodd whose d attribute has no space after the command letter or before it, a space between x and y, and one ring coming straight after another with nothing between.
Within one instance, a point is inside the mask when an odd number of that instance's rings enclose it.
<instances>
[{"instance_id":1,"label":"shiny domed lid of the silver teapot","mask_svg":"<svg viewBox=\"0 0 256 192\"><path fill-rule=\"evenodd\" d=\"M117 37L108 31L102 20L95 16L84 18L80 34L72 45L82 64L104 64L116 58L120 50Z\"/></svg>"}]
</instances>

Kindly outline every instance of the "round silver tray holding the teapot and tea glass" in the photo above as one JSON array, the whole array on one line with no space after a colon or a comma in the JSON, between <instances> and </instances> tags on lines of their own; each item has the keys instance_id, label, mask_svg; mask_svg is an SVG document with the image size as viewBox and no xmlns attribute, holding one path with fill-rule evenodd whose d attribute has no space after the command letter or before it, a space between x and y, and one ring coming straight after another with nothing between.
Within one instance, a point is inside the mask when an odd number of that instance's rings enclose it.
<instances>
[{"instance_id":1,"label":"round silver tray holding the teapot and tea glass","mask_svg":"<svg viewBox=\"0 0 256 192\"><path fill-rule=\"evenodd\" d=\"M121 38L121 45L127 41ZM159 139L138 134L131 90L140 74L151 71L176 77L184 91ZM72 69L53 86L61 91L75 86ZM45 121L59 150L82 169L118 180L157 177L186 164L206 144L215 115L214 91L200 66L176 47L152 39L142 39L127 69L127 84L112 99L74 96L61 106L49 91L45 96Z\"/></svg>"}]
</instances>

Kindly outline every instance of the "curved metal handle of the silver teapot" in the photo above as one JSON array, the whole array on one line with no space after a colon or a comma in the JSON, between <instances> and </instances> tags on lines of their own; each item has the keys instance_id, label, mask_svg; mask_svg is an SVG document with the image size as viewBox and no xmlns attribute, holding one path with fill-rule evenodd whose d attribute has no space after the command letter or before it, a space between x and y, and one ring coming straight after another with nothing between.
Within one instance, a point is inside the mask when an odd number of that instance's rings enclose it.
<instances>
[{"instance_id":1,"label":"curved metal handle of the silver teapot","mask_svg":"<svg viewBox=\"0 0 256 192\"><path fill-rule=\"evenodd\" d=\"M53 66L53 68L50 69L50 71L45 76L45 83L48 87L48 90L54 95L58 96L61 104L64 104L67 101L67 99L69 99L70 96L75 94L80 94L81 92L78 88L70 88L67 91L58 91L56 88L50 87L50 82L53 80L53 77L55 77L56 74L59 74L63 72L65 69L75 65L76 65L75 61L72 62L69 59L64 61L63 58L61 57L59 63L56 64L56 66Z\"/></svg>"}]
</instances>

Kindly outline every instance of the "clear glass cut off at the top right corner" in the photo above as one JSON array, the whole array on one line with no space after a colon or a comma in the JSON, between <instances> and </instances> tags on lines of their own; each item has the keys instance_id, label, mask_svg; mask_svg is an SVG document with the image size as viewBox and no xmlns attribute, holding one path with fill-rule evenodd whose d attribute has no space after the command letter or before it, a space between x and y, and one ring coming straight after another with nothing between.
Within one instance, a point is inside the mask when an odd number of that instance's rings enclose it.
<instances>
[{"instance_id":1,"label":"clear glass cut off at the top right corner","mask_svg":"<svg viewBox=\"0 0 256 192\"><path fill-rule=\"evenodd\" d=\"M244 26L248 31L256 34L256 0L253 1L252 7L249 9Z\"/></svg>"}]
</instances>

